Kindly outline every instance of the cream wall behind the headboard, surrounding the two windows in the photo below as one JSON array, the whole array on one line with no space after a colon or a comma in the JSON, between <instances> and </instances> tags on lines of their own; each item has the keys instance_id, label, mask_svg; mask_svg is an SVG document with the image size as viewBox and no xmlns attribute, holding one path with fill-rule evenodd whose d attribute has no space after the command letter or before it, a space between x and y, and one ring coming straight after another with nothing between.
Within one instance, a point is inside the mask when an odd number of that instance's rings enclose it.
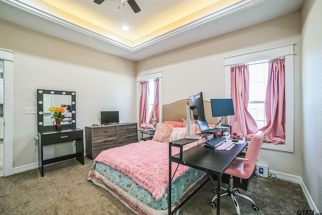
<instances>
[{"instance_id":1,"label":"cream wall behind the headboard, surrounding the two windows","mask_svg":"<svg viewBox=\"0 0 322 215\"><path fill-rule=\"evenodd\" d=\"M224 98L224 57L293 42L294 129L298 131L302 127L300 12L141 60L137 75L163 71L163 104L187 99L199 91L206 100ZM270 170L300 176L301 146L302 134L294 132L294 153L262 149L259 163L267 164Z\"/></svg>"}]
</instances>

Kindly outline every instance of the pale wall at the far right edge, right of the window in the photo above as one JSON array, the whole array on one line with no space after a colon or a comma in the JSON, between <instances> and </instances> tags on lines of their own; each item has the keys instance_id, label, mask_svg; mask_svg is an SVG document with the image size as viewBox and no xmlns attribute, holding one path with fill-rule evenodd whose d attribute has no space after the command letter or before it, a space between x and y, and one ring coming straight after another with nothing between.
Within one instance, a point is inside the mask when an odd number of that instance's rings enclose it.
<instances>
[{"instance_id":1,"label":"pale wall at the far right edge, right of the window","mask_svg":"<svg viewBox=\"0 0 322 215\"><path fill-rule=\"evenodd\" d=\"M302 9L303 140L302 179L322 211L322 1L306 0ZM317 212L317 211L315 211Z\"/></svg>"}]
</instances>

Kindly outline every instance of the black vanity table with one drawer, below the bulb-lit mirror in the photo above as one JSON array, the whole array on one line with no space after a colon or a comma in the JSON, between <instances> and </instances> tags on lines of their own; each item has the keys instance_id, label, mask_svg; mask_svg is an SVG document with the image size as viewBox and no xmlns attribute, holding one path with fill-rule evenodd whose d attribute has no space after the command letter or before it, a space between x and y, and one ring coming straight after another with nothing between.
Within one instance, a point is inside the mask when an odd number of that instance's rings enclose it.
<instances>
[{"instance_id":1,"label":"black vanity table with one drawer, below the bulb-lit mirror","mask_svg":"<svg viewBox=\"0 0 322 215\"><path fill-rule=\"evenodd\" d=\"M76 158L76 160L79 161L79 163L84 165L83 129L62 128L61 130L38 131L38 138L38 168L41 177L44 176L44 165L47 164L53 164L59 161ZM75 141L75 154L43 160L43 146L50 146L71 141Z\"/></svg>"}]
</instances>

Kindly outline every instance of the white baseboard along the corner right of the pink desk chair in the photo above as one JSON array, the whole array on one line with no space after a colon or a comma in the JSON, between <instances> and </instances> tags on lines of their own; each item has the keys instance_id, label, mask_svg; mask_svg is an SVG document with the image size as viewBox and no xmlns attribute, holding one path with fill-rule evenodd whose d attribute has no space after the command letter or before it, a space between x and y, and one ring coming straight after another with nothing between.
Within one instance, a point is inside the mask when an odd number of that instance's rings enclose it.
<instances>
[{"instance_id":1,"label":"white baseboard along the corner right of the pink desk chair","mask_svg":"<svg viewBox=\"0 0 322 215\"><path fill-rule=\"evenodd\" d=\"M305 195L305 198L307 200L308 205L310 206L311 210L314 210L315 213L318 213L317 207L315 206L313 199L311 198L308 190L306 189L306 186L302 180L301 177L299 176L295 176L295 175L290 175L290 174L286 174L286 173L281 173L281 172L276 172L276 171L272 171L270 170L271 174L274 174L276 176L276 178L284 180L284 181L289 181L295 184L299 184L303 190L303 193Z\"/></svg>"}]
</instances>

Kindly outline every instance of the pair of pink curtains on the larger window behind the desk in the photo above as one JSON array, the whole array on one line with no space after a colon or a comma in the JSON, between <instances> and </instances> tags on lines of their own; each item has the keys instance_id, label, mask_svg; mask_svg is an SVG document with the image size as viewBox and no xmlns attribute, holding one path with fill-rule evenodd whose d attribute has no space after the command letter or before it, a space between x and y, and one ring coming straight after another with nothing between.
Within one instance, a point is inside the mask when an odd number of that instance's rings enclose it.
<instances>
[{"instance_id":1,"label":"pair of pink curtains on the larger window behind the desk","mask_svg":"<svg viewBox=\"0 0 322 215\"><path fill-rule=\"evenodd\" d=\"M249 103L249 65L233 66L230 68L230 73L231 98L235 108L235 115L230 117L230 123L233 132L250 139L258 130L258 126L253 118L254 113L252 116L248 109L248 105L252 103ZM267 73L264 72L264 74ZM263 104L265 103L264 122L266 124L259 130L265 133L265 142L285 144L285 59L274 59L268 62L268 77L265 77L265 80L267 80L267 87ZM258 84L254 84L255 94L261 91L260 88L263 85ZM257 103L261 102L257 101Z\"/></svg>"}]
</instances>

